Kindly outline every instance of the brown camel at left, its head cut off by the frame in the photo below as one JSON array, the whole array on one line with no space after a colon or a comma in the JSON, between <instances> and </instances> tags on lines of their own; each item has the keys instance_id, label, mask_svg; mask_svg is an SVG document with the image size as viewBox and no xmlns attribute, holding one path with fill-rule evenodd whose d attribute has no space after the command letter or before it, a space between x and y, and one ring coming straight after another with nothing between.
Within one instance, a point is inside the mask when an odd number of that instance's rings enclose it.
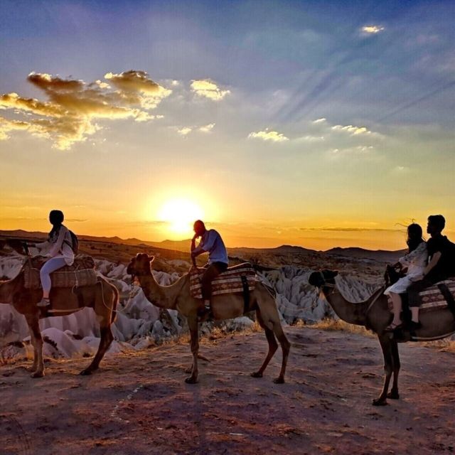
<instances>
[{"instance_id":1,"label":"brown camel at left, its head cut off by the frame","mask_svg":"<svg viewBox=\"0 0 455 455\"><path fill-rule=\"evenodd\" d=\"M71 288L54 288L50 290L50 307L38 307L41 300L41 289L26 289L24 287L23 270L13 279L0 282L0 303L14 306L16 311L26 316L31 343L34 348L33 365L30 370L32 378L44 376L43 338L38 321L49 316L66 316L85 306L92 308L100 323L101 340L92 363L80 372L90 375L97 370L100 361L109 348L112 336L111 324L115 320L119 292L102 277L92 286Z\"/></svg>"}]
</instances>

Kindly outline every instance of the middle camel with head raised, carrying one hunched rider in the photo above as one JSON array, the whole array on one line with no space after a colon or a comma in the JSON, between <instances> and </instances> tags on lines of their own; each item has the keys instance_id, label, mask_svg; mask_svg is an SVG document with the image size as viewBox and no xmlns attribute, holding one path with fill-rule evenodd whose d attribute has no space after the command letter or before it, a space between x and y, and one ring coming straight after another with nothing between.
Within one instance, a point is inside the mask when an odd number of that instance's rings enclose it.
<instances>
[{"instance_id":1,"label":"middle camel with head raised, carrying one hunched rider","mask_svg":"<svg viewBox=\"0 0 455 455\"><path fill-rule=\"evenodd\" d=\"M159 308L176 309L183 316L186 316L188 328L191 334L191 353L193 354L193 365L191 375L186 378L186 382L194 384L198 382L198 308L200 308L200 299L194 299L190 295L190 276L184 274L177 282L171 286L160 286L151 273L151 262L154 257L145 253L138 253L133 257L127 267L127 272L139 279L139 284L146 298ZM242 294L221 294L212 297L213 319L232 319L242 316L247 311L256 311L257 321L264 328L265 336L269 343L269 352L262 363L261 368L252 373L253 378L262 378L270 359L273 357L278 348L275 336L282 346L282 368L278 378L274 382L281 384L284 382L284 372L286 370L287 358L289 355L290 343L284 335L282 325L279 321L279 314L275 300L261 282L256 284L253 291L250 291L250 299L247 309L244 308L244 299Z\"/></svg>"}]
</instances>

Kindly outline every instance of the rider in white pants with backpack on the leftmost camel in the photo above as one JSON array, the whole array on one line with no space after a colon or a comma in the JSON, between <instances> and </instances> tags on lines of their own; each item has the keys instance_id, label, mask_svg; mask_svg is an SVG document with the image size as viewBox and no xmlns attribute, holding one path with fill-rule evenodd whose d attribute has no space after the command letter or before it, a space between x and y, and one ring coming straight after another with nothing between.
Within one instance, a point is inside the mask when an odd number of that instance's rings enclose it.
<instances>
[{"instance_id":1,"label":"rider in white pants with backpack on the leftmost camel","mask_svg":"<svg viewBox=\"0 0 455 455\"><path fill-rule=\"evenodd\" d=\"M49 223L52 225L52 229L49 232L48 240L30 245L36 247L41 256L50 257L40 270L43 299L38 302L37 306L48 306L50 304L50 274L65 265L72 265L74 262L73 239L68 228L62 224L64 218L62 211L50 210Z\"/></svg>"}]
</instances>

